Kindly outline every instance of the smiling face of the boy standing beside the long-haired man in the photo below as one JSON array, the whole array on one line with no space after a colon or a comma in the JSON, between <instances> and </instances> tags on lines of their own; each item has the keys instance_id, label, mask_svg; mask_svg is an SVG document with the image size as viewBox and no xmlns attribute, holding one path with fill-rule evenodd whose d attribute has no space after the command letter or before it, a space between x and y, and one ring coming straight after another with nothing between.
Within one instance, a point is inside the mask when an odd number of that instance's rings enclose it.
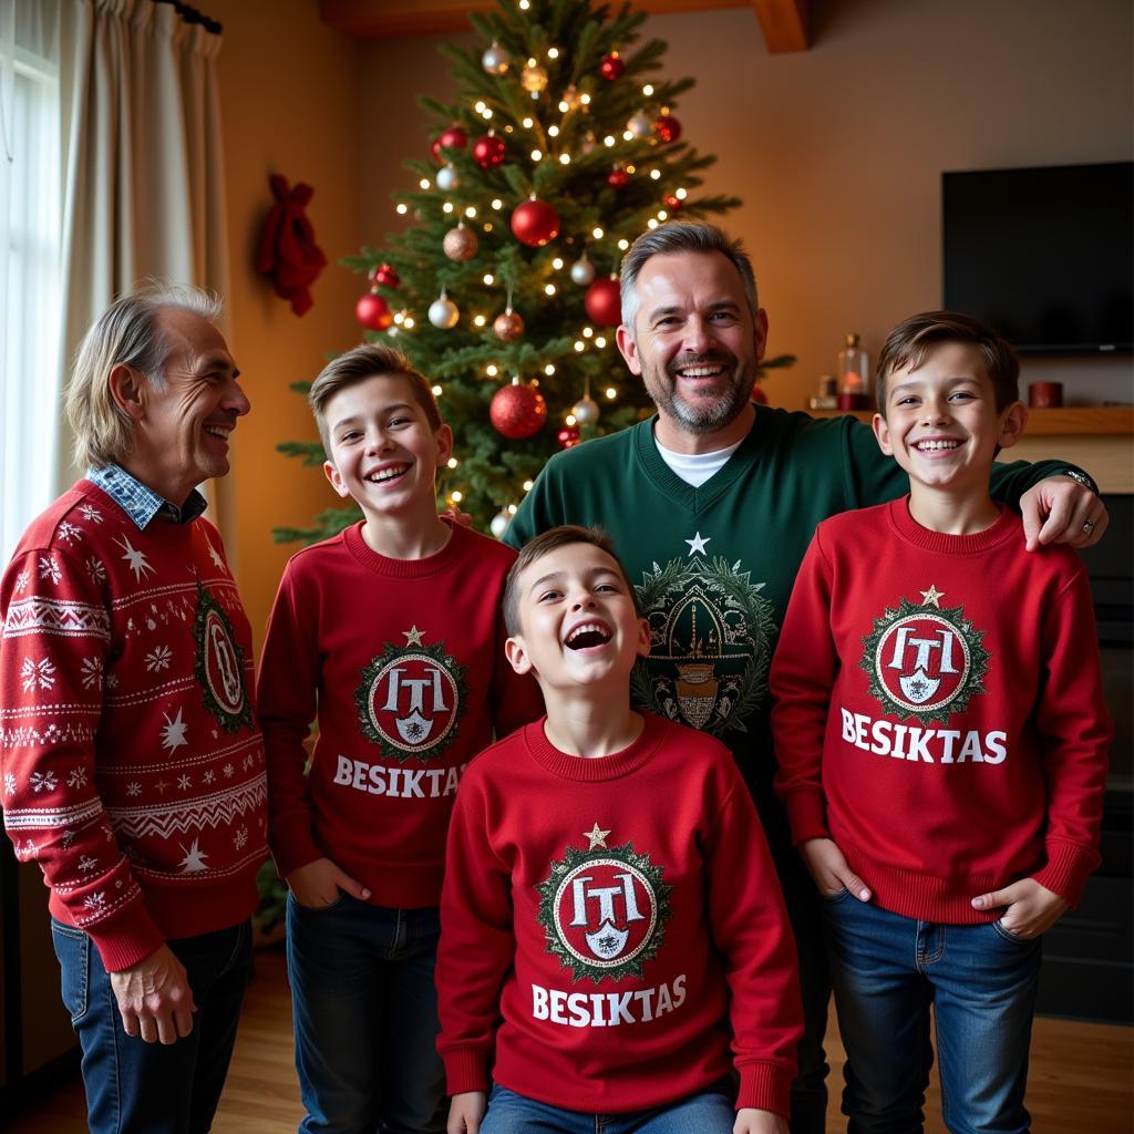
<instances>
[{"instance_id":1,"label":"smiling face of the boy standing beside the long-haired man","mask_svg":"<svg viewBox=\"0 0 1134 1134\"><path fill-rule=\"evenodd\" d=\"M452 431L433 429L404 374L373 374L323 407L330 459L323 472L367 519L437 515L437 466L452 456Z\"/></svg>"}]
</instances>

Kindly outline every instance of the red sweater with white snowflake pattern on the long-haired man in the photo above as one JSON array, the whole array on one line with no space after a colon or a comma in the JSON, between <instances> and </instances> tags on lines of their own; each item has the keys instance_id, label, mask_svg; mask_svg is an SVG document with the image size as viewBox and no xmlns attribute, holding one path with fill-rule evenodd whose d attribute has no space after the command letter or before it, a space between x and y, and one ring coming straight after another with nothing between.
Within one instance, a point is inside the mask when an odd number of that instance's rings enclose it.
<instances>
[{"instance_id":1,"label":"red sweater with white snowflake pattern on the long-haired man","mask_svg":"<svg viewBox=\"0 0 1134 1134\"><path fill-rule=\"evenodd\" d=\"M109 971L256 907L251 633L208 521L144 530L79 481L0 584L5 828Z\"/></svg>"}]
</instances>

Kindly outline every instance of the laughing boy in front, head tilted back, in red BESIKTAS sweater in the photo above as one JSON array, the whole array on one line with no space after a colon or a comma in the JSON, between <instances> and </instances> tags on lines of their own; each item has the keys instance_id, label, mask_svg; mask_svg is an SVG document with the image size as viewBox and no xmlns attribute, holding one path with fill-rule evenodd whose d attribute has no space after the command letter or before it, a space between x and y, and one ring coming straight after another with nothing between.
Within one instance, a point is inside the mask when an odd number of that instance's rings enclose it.
<instances>
[{"instance_id":1,"label":"laughing boy in front, head tilted back, in red BESIKTAS sweater","mask_svg":"<svg viewBox=\"0 0 1134 1134\"><path fill-rule=\"evenodd\" d=\"M547 717L476 759L454 811L449 1134L786 1134L795 949L728 750L631 710L649 629L601 533L524 547L505 621Z\"/></svg>"}]
</instances>

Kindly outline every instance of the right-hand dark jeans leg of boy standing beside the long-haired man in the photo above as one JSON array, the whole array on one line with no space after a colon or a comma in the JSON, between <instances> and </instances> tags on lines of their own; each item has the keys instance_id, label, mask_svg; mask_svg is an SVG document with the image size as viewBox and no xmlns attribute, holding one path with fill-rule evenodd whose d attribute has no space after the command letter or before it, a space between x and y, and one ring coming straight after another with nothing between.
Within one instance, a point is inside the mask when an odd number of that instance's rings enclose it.
<instances>
[{"instance_id":1,"label":"right-hand dark jeans leg of boy standing beside the long-haired man","mask_svg":"<svg viewBox=\"0 0 1134 1134\"><path fill-rule=\"evenodd\" d=\"M388 1134L445 1134L445 1065L437 1052L437 906L399 911L388 960L382 1117Z\"/></svg>"}]
</instances>

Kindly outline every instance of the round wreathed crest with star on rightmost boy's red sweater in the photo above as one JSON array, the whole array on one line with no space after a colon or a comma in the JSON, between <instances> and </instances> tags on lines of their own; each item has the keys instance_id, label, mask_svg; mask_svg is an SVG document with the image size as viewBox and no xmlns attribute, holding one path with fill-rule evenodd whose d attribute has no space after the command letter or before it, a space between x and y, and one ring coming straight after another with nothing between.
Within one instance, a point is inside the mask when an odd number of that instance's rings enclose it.
<instances>
[{"instance_id":1,"label":"round wreathed crest with star on rightmost boy's red sweater","mask_svg":"<svg viewBox=\"0 0 1134 1134\"><path fill-rule=\"evenodd\" d=\"M942 608L945 594L932 584L920 594L921 603L902 599L897 610L874 619L858 665L887 716L946 723L985 692L991 654L963 608Z\"/></svg>"}]
</instances>

